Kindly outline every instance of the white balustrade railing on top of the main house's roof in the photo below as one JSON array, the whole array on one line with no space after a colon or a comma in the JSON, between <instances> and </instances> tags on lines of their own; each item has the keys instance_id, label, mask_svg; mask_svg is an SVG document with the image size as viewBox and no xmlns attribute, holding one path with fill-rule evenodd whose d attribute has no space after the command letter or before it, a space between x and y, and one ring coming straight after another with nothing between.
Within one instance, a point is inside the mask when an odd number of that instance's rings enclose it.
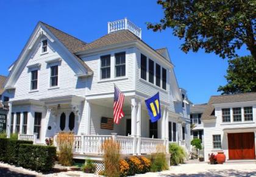
<instances>
[{"instance_id":1,"label":"white balustrade railing on top of the main house's roof","mask_svg":"<svg viewBox=\"0 0 256 177\"><path fill-rule=\"evenodd\" d=\"M108 22L108 33L116 32L124 29L129 30L130 32L134 33L141 39L141 29L135 26L135 24L133 24L127 18Z\"/></svg>"}]
</instances>

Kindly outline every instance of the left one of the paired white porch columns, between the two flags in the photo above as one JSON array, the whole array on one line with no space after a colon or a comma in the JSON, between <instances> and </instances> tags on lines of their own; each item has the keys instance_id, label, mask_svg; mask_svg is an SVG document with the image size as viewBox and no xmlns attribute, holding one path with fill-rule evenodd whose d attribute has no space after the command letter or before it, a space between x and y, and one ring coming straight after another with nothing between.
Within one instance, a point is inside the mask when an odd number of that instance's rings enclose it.
<instances>
[{"instance_id":1,"label":"left one of the paired white porch columns, between the two flags","mask_svg":"<svg viewBox=\"0 0 256 177\"><path fill-rule=\"evenodd\" d=\"M131 113L131 119L132 119L132 137L133 137L133 143L132 143L132 153L133 155L136 154L136 146L137 146L137 141L136 141L136 135L137 135L137 108L136 108L136 100L135 98L131 99L131 103L132 103L132 113Z\"/></svg>"}]
</instances>

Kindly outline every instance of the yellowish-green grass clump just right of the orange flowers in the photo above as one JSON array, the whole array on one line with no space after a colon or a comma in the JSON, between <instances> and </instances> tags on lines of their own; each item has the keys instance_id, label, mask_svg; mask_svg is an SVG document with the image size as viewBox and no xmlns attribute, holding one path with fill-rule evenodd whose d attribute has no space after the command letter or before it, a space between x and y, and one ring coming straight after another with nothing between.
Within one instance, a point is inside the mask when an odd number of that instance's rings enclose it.
<instances>
[{"instance_id":1,"label":"yellowish-green grass clump just right of the orange flowers","mask_svg":"<svg viewBox=\"0 0 256 177\"><path fill-rule=\"evenodd\" d=\"M169 166L166 161L165 153L154 153L151 156L151 172L161 172L168 170Z\"/></svg>"}]
</instances>

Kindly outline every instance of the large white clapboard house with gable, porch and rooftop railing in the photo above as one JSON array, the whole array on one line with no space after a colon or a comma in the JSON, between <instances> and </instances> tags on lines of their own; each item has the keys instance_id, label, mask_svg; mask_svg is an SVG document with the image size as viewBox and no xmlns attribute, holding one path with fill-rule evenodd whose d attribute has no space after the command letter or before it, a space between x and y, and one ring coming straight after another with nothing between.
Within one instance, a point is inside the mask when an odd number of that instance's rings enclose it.
<instances>
[{"instance_id":1,"label":"large white clapboard house with gable, porch and rooftop railing","mask_svg":"<svg viewBox=\"0 0 256 177\"><path fill-rule=\"evenodd\" d=\"M127 19L108 23L107 35L91 43L39 22L9 70L8 136L44 144L73 131L75 154L101 154L102 141L111 137L123 154L152 153L169 142L190 150L190 105L168 50L144 43ZM119 125L112 123L114 84L125 95ZM144 100L157 92L162 118L151 123Z\"/></svg>"}]
</instances>

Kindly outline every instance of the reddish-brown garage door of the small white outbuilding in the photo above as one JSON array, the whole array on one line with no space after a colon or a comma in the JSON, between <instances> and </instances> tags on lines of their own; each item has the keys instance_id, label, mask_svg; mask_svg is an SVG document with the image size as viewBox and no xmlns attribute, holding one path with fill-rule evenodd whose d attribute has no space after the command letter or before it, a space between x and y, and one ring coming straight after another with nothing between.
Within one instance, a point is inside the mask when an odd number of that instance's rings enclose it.
<instances>
[{"instance_id":1,"label":"reddish-brown garage door of the small white outbuilding","mask_svg":"<svg viewBox=\"0 0 256 177\"><path fill-rule=\"evenodd\" d=\"M254 133L228 133L229 159L255 159Z\"/></svg>"}]
</instances>

